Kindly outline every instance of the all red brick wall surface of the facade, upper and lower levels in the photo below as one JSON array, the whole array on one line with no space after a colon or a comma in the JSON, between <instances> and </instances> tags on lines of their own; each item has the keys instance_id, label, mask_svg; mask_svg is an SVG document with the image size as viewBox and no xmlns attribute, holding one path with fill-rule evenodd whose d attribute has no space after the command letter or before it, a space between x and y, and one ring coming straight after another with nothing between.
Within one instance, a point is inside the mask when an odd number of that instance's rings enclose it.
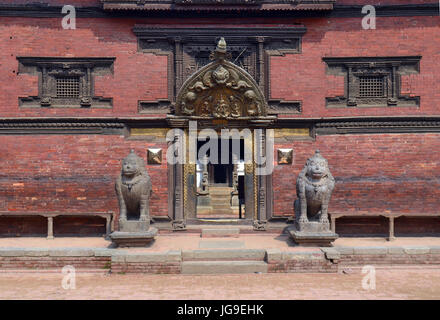
<instances>
[{"instance_id":1,"label":"all red brick wall surface of the facade, upper and lower levels","mask_svg":"<svg viewBox=\"0 0 440 320\"><path fill-rule=\"evenodd\" d=\"M352 0L344 3L357 3ZM52 1L55 3L56 1ZM93 4L90 0L90 3ZM421 1L413 1L420 3ZM17 3L14 1L14 3ZM81 1L88 4L89 1ZM381 2L385 3L384 1ZM394 2L397 3L397 2ZM409 3L409 2L408 2ZM378 18L376 30L363 30L361 18L335 19L78 19L63 30L54 18L5 18L0 24L0 117L139 116L138 100L167 98L167 58L137 52L136 23L208 23L284 26L304 24L301 54L271 58L272 98L301 100L296 117L438 115L440 95L440 17ZM422 55L420 74L402 79L402 91L421 97L420 108L325 107L325 97L343 92L343 78L325 74L322 57ZM95 94L114 98L113 109L20 109L18 97L37 94L37 77L17 75L17 56L116 57L114 75L95 79ZM328 158L336 178L330 210L338 212L438 212L440 164L437 134L319 136L293 147L293 166L274 172L275 215L293 213L295 182L314 149ZM0 136L0 210L117 211L114 180L131 148L144 158L157 143L122 136ZM165 157L166 152L163 152ZM152 215L166 215L166 159L148 166L154 195ZM289 192L286 192L289 190Z\"/></svg>"}]
</instances>

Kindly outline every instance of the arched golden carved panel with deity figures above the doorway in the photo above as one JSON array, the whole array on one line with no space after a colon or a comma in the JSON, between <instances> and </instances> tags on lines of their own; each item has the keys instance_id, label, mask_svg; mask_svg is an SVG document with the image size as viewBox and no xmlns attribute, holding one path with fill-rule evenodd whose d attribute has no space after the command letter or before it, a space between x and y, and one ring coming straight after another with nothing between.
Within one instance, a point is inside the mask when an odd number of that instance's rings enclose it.
<instances>
[{"instance_id":1,"label":"arched golden carved panel with deity figures above the doorway","mask_svg":"<svg viewBox=\"0 0 440 320\"><path fill-rule=\"evenodd\" d=\"M267 103L252 77L228 61L221 38L213 62L194 73L176 100L176 115L221 119L266 116Z\"/></svg>"}]
</instances>

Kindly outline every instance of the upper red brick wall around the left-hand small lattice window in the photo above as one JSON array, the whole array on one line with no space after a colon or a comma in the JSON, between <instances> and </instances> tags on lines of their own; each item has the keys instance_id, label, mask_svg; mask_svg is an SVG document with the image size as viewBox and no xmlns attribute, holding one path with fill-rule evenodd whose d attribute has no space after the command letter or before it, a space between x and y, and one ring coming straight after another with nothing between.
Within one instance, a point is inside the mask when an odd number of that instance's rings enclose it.
<instances>
[{"instance_id":1,"label":"upper red brick wall around the left-hand small lattice window","mask_svg":"<svg viewBox=\"0 0 440 320\"><path fill-rule=\"evenodd\" d=\"M137 115L138 100L167 98L167 57L137 52L133 21L78 19L64 30L61 19L2 18L0 115L103 117ZM114 75L95 77L95 95L112 97L113 109L20 109L18 98L38 95L38 76L19 74L18 56L116 57Z\"/></svg>"}]
</instances>

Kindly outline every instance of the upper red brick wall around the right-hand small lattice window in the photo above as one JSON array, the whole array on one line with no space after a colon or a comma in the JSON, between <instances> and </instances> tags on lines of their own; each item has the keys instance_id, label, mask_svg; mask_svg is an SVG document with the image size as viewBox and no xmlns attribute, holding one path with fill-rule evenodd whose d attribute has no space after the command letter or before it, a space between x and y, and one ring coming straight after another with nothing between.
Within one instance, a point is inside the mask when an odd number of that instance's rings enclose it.
<instances>
[{"instance_id":1,"label":"upper red brick wall around the right-hand small lattice window","mask_svg":"<svg viewBox=\"0 0 440 320\"><path fill-rule=\"evenodd\" d=\"M438 114L440 16L377 18L363 30L361 18L307 19L302 54L271 58L272 98L301 100L298 117ZM402 93L420 96L420 108L326 108L325 98L344 93L344 77L326 75L323 57L417 56L420 74L402 77ZM305 68L304 66L309 66Z\"/></svg>"}]
</instances>

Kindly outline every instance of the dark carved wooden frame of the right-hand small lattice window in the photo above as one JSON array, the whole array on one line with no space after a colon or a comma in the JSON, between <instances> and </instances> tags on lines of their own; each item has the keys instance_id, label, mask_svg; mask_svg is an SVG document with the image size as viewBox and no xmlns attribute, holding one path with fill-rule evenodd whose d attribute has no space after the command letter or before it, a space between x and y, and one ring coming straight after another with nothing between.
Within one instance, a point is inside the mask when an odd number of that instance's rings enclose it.
<instances>
[{"instance_id":1,"label":"dark carved wooden frame of the right-hand small lattice window","mask_svg":"<svg viewBox=\"0 0 440 320\"><path fill-rule=\"evenodd\" d=\"M327 97L328 108L334 107L419 107L420 97L401 94L401 76L420 72L421 56L323 58L326 73L344 76L345 94ZM383 97L360 96L361 77L383 77Z\"/></svg>"}]
</instances>

